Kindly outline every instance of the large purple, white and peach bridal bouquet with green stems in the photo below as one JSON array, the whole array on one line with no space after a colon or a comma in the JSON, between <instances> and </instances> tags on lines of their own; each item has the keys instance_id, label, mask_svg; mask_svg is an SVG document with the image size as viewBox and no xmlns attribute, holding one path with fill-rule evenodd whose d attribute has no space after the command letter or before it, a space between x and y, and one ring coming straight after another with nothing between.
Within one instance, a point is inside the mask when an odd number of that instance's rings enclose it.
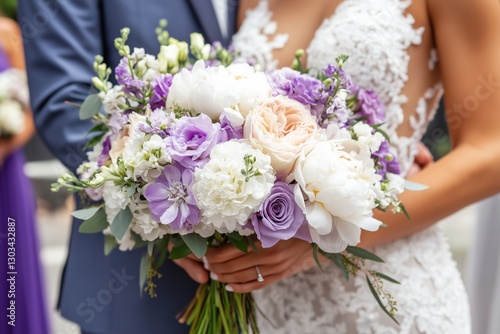
<instances>
[{"instance_id":1,"label":"large purple, white and peach bridal bouquet with green stems","mask_svg":"<svg viewBox=\"0 0 500 334\"><path fill-rule=\"evenodd\" d=\"M162 25L153 56L131 52L128 33L115 43L117 84L96 57L99 92L80 110L95 121L88 162L54 185L102 200L74 213L80 231L104 233L106 253L145 247L141 288L151 296L167 257L300 238L346 277L366 274L392 317L381 281L393 280L364 270L381 260L355 246L382 224L373 209L404 211L404 180L380 128L384 108L342 69L347 56L313 75L298 52L294 68L265 73L199 34L188 45ZM210 281L180 321L192 333L257 333L255 312L250 294Z\"/></svg>"}]
</instances>

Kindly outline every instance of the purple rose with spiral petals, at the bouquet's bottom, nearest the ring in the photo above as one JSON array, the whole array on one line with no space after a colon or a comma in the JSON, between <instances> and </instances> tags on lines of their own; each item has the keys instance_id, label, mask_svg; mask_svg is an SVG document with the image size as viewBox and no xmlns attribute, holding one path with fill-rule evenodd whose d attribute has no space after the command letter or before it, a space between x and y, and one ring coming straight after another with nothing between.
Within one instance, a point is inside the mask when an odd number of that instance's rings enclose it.
<instances>
[{"instance_id":1,"label":"purple rose with spiral petals, at the bouquet's bottom, nearest the ring","mask_svg":"<svg viewBox=\"0 0 500 334\"><path fill-rule=\"evenodd\" d=\"M304 213L295 202L291 186L284 182L274 184L271 195L262 202L251 223L264 248L293 237L311 242Z\"/></svg>"}]
</instances>

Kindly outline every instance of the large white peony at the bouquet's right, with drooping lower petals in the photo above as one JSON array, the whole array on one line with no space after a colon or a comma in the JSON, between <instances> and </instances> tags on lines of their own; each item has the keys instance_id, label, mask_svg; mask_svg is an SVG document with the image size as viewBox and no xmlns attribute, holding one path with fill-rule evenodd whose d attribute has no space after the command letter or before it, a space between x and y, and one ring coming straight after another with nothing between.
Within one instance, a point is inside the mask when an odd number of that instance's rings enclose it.
<instances>
[{"instance_id":1,"label":"large white peony at the bouquet's right, with drooping lower petals","mask_svg":"<svg viewBox=\"0 0 500 334\"><path fill-rule=\"evenodd\" d=\"M360 241L361 229L375 231L375 173L368 150L352 140L317 143L295 165L295 196L309 223L311 236L327 252L343 251Z\"/></svg>"}]
</instances>

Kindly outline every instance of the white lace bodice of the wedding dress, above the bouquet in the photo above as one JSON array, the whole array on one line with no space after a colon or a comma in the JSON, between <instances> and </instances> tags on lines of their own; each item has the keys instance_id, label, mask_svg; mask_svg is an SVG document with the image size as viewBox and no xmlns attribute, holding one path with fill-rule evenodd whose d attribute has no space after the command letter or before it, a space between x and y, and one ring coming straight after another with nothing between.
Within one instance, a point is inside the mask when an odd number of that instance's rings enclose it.
<instances>
[{"instance_id":1,"label":"white lace bodice of the wedding dress, above the bouquet","mask_svg":"<svg viewBox=\"0 0 500 334\"><path fill-rule=\"evenodd\" d=\"M441 85L436 82L419 96L403 94L409 79L408 48L419 45L424 28L413 27L414 19L405 10L411 1L344 0L332 17L326 19L308 49L308 67L319 70L345 53L349 60L346 71L354 82L377 92L386 106L386 131L391 144L407 171L416 153L416 143L422 137L435 110ZM261 1L249 10L233 43L244 58L253 58L268 70L275 69L273 50L282 48L289 36L277 33L268 1ZM437 62L435 51L429 55L429 71ZM416 106L416 107L414 107ZM411 108L411 109L410 109ZM398 131L409 120L406 133Z\"/></svg>"}]
</instances>

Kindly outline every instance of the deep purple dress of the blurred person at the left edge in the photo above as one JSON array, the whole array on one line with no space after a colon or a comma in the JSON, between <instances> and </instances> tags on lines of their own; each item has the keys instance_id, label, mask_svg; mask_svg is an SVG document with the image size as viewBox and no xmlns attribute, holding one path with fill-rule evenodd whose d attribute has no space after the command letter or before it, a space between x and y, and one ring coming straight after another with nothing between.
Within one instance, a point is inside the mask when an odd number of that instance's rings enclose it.
<instances>
[{"instance_id":1,"label":"deep purple dress of the blurred person at the left edge","mask_svg":"<svg viewBox=\"0 0 500 334\"><path fill-rule=\"evenodd\" d=\"M9 67L0 49L0 72ZM0 333L48 334L35 197L23 166L16 151L0 167Z\"/></svg>"}]
</instances>

